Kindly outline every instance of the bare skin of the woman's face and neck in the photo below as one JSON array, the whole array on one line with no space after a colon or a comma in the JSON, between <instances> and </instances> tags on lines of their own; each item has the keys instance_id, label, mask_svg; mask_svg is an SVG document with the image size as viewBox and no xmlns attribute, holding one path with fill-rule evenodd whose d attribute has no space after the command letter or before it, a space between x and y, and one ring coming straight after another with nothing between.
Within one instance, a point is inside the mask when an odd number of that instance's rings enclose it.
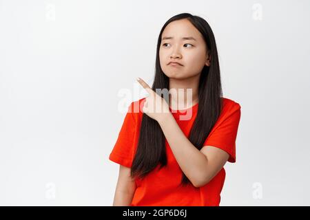
<instances>
[{"instance_id":1,"label":"bare skin of the woman's face and neck","mask_svg":"<svg viewBox=\"0 0 310 220\"><path fill-rule=\"evenodd\" d=\"M195 40L183 39L185 36L192 36ZM172 39L165 39L166 37ZM186 89L192 89L192 100L187 100L186 94L171 94L169 106L191 107L198 102L201 71L205 65L210 65L211 57L208 56L203 36L187 19L181 19L167 25L161 40L159 58L161 69L169 77L169 90L184 89L186 93ZM168 65L170 61L178 62L182 66Z\"/></svg>"}]
</instances>

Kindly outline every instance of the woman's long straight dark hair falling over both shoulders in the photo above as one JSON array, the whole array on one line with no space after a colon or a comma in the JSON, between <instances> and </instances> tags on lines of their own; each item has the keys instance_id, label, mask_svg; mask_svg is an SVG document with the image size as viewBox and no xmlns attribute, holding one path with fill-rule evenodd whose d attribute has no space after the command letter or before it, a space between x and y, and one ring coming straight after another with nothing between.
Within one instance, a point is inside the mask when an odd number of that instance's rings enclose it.
<instances>
[{"instance_id":1,"label":"woman's long straight dark hair falling over both shoulders","mask_svg":"<svg viewBox=\"0 0 310 220\"><path fill-rule=\"evenodd\" d=\"M161 29L157 41L155 77L152 89L169 89L169 78L163 73L159 61L161 35L165 27L172 21L187 19L203 35L207 44L207 53L211 56L210 65L203 67L198 85L198 111L196 119L189 133L189 141L200 150L209 132L218 120L222 110L222 86L220 83L220 65L214 34L205 19L189 13L177 14L169 19ZM132 177L143 178L152 171L158 163L160 168L167 166L165 135L156 120L143 113L138 146L132 162ZM183 173L179 186L192 184Z\"/></svg>"}]
</instances>

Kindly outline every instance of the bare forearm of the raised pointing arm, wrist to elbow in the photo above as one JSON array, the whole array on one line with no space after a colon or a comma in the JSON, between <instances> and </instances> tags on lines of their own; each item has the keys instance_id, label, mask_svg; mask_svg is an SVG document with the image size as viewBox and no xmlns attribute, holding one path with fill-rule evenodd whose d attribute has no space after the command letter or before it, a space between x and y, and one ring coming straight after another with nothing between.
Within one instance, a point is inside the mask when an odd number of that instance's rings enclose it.
<instances>
[{"instance_id":1,"label":"bare forearm of the raised pointing arm, wrist to elbow","mask_svg":"<svg viewBox=\"0 0 310 220\"><path fill-rule=\"evenodd\" d=\"M167 115L165 120L158 123L165 134L178 165L187 178L192 181L192 184L197 186L205 179L207 157L187 139L173 115Z\"/></svg>"}]
</instances>

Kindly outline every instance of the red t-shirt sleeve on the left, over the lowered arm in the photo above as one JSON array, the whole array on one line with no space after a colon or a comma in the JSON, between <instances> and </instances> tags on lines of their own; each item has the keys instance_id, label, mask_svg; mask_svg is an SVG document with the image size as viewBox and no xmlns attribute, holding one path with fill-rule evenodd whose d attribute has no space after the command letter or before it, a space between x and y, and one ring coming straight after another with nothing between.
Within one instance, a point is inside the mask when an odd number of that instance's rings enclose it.
<instances>
[{"instance_id":1,"label":"red t-shirt sleeve on the left, over the lowered arm","mask_svg":"<svg viewBox=\"0 0 310 220\"><path fill-rule=\"evenodd\" d=\"M128 107L125 119L118 133L109 159L123 166L132 167L134 144L136 144L136 116L132 112L132 104Z\"/></svg>"}]
</instances>

